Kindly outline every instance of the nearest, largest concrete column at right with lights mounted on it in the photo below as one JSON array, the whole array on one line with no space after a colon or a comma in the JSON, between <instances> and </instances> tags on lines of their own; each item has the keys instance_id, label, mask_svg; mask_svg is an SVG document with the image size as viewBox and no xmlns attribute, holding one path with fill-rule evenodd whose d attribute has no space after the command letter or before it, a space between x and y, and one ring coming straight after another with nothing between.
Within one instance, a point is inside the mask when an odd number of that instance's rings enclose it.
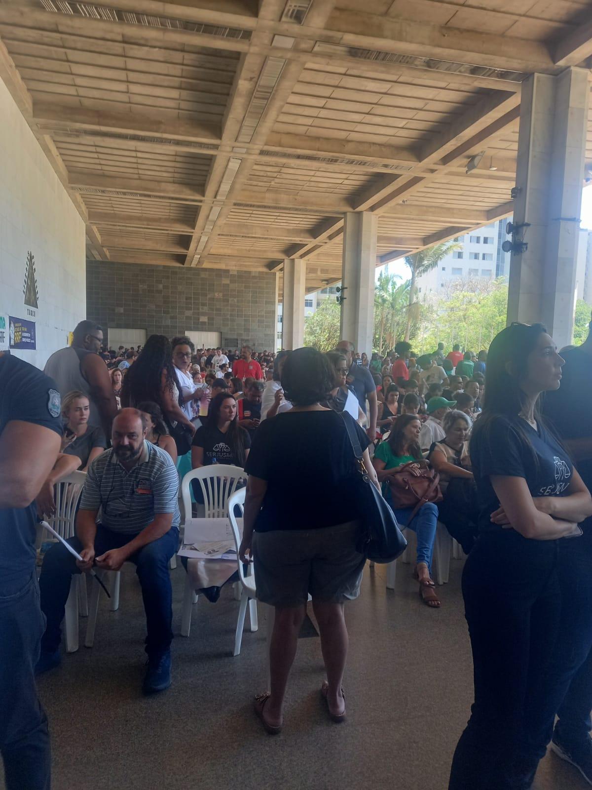
<instances>
[{"instance_id":1,"label":"nearest, largest concrete column at right with lights mounted on it","mask_svg":"<svg viewBox=\"0 0 592 790\"><path fill-rule=\"evenodd\" d=\"M511 254L508 323L541 322L561 348L573 333L588 72L532 74L522 85L514 223L530 228L516 236L528 250Z\"/></svg>"}]
</instances>

